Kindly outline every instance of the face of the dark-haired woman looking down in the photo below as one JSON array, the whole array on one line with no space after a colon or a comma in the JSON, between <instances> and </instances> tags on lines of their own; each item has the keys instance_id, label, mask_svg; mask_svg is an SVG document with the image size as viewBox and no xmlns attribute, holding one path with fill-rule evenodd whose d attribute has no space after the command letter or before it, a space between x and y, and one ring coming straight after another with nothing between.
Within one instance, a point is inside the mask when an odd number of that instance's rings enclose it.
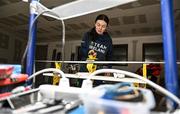
<instances>
[{"instance_id":1,"label":"face of the dark-haired woman looking down","mask_svg":"<svg viewBox=\"0 0 180 114\"><path fill-rule=\"evenodd\" d=\"M103 34L107 28L107 23L104 20L97 20L95 23L95 30L98 34Z\"/></svg>"}]
</instances>

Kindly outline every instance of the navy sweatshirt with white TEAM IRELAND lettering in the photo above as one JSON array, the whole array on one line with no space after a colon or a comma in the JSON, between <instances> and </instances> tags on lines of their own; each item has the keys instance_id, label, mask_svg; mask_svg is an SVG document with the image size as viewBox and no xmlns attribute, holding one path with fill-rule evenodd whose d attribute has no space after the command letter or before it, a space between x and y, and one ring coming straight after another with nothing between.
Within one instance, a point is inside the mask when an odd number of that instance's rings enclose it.
<instances>
[{"instance_id":1,"label":"navy sweatshirt with white TEAM IRELAND lettering","mask_svg":"<svg viewBox=\"0 0 180 114\"><path fill-rule=\"evenodd\" d=\"M88 58L89 50L94 50L97 53L97 61L111 61L112 60L112 39L107 32L103 35L96 33L95 28L86 32L81 42L81 60L85 61ZM111 65L108 65L110 68ZM87 71L86 67L84 70Z\"/></svg>"}]
</instances>

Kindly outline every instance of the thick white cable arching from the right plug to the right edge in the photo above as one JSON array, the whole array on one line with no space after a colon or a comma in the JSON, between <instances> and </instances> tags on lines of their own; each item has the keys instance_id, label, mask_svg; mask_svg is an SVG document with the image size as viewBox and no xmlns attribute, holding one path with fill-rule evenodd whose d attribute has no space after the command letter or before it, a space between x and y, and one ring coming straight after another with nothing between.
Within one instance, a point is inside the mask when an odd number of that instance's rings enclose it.
<instances>
[{"instance_id":1,"label":"thick white cable arching from the right plug to the right edge","mask_svg":"<svg viewBox=\"0 0 180 114\"><path fill-rule=\"evenodd\" d=\"M159 92L163 93L164 95L168 96L169 98L171 98L172 100L174 100L180 107L180 99L175 96L174 94L172 94L171 92L169 92L168 90L164 89L163 87L155 84L154 82L138 75L138 74L135 74L135 73L131 73L131 72L128 72L128 71L123 71L123 70L117 70L117 69L100 69L100 70L96 70L95 72L93 72L92 74L90 74L88 76L88 79L87 80L90 80L91 79L91 76L95 76L97 74L100 74L100 73L106 73L106 72L109 72L109 73L120 73L120 74L125 74L127 76L130 76L130 77L133 77L133 78L138 78L144 82L146 82L147 84L149 84L150 86L152 86L153 88L157 89Z\"/></svg>"}]
</instances>

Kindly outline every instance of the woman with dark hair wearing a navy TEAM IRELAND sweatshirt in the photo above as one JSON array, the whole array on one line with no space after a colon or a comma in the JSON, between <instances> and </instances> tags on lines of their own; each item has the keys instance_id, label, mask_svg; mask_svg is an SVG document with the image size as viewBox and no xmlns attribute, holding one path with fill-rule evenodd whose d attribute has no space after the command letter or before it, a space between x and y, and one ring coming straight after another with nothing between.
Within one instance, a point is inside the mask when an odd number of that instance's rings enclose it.
<instances>
[{"instance_id":1,"label":"woman with dark hair wearing a navy TEAM IRELAND sweatshirt","mask_svg":"<svg viewBox=\"0 0 180 114\"><path fill-rule=\"evenodd\" d=\"M95 19L95 25L92 29L87 31L81 42L81 60L86 61L88 54L94 52L96 61L111 61L112 59L112 39L107 32L109 18L100 14ZM102 65L97 65L97 69L101 69ZM108 65L108 68L111 68ZM88 72L86 64L82 64L81 72Z\"/></svg>"}]
</instances>

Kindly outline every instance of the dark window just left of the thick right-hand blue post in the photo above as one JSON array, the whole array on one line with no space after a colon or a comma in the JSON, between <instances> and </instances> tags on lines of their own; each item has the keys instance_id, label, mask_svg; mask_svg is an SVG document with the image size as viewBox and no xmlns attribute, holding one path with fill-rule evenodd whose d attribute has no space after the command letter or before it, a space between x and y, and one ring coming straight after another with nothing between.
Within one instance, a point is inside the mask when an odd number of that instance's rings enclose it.
<instances>
[{"instance_id":1,"label":"dark window just left of the thick right-hand blue post","mask_svg":"<svg viewBox=\"0 0 180 114\"><path fill-rule=\"evenodd\" d=\"M163 60L163 44L143 44L143 60L154 62L159 62L160 60Z\"/></svg>"}]
</instances>

